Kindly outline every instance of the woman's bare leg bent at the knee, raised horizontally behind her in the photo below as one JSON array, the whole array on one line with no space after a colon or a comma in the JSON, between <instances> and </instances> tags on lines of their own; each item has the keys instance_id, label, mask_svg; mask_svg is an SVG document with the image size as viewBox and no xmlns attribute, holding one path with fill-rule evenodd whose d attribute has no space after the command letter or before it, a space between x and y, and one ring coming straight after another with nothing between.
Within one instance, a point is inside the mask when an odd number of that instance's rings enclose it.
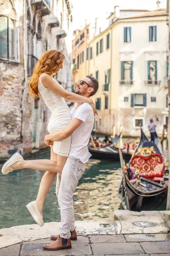
<instances>
[{"instance_id":1,"label":"woman's bare leg bent at the knee, raised horizontally behind her","mask_svg":"<svg viewBox=\"0 0 170 256\"><path fill-rule=\"evenodd\" d=\"M55 154L55 160L40 159L40 160L20 160L17 163L11 165L11 168L14 170L17 169L37 169L40 171L48 172L62 172L63 166L67 157L59 156Z\"/></svg>"}]
</instances>

